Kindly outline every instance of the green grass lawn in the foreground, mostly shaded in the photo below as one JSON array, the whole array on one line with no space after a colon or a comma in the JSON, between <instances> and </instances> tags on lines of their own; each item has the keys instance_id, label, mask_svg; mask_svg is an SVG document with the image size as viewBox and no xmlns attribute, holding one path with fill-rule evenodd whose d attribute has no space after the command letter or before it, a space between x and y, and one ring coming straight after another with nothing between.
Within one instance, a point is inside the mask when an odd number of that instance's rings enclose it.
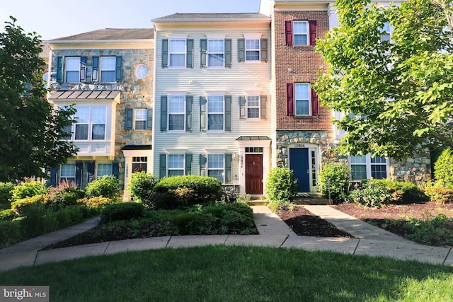
<instances>
[{"instance_id":1,"label":"green grass lawn in the foreground, mostly shaded","mask_svg":"<svg viewBox=\"0 0 453 302\"><path fill-rule=\"evenodd\" d=\"M453 267L223 245L13 269L0 284L49 285L50 301L453 301Z\"/></svg>"}]
</instances>

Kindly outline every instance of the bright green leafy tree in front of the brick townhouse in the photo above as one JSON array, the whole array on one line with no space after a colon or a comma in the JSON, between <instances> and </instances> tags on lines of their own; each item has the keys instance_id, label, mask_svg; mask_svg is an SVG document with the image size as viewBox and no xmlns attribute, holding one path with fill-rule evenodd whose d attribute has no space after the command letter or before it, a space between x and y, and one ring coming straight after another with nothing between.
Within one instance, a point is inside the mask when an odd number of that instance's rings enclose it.
<instances>
[{"instance_id":1,"label":"bright green leafy tree in front of the brick townhouse","mask_svg":"<svg viewBox=\"0 0 453 302\"><path fill-rule=\"evenodd\" d=\"M340 151L401 159L453 146L452 4L336 1L340 25L317 41L329 69L315 89L345 114L334 121L348 132Z\"/></svg>"}]
</instances>

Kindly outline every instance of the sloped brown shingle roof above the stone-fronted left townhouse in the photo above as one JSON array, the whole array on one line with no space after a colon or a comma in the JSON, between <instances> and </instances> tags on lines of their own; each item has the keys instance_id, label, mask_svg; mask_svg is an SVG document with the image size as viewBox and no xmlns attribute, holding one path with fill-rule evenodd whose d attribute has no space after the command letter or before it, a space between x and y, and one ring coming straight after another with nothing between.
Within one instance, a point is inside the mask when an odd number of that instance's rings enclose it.
<instances>
[{"instance_id":1,"label":"sloped brown shingle roof above the stone-fronted left townhouse","mask_svg":"<svg viewBox=\"0 0 453 302\"><path fill-rule=\"evenodd\" d=\"M55 41L100 41L100 40L150 40L154 39L153 28L105 28L88 33L69 35L49 40Z\"/></svg>"}]
</instances>

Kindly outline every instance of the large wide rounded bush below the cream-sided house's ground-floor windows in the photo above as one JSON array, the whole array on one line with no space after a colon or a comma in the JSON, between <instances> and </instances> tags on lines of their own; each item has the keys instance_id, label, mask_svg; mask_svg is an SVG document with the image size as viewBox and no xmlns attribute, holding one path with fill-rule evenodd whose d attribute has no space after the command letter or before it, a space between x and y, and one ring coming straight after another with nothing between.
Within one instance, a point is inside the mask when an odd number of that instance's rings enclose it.
<instances>
[{"instance_id":1,"label":"large wide rounded bush below the cream-sided house's ground-floor windows","mask_svg":"<svg viewBox=\"0 0 453 302\"><path fill-rule=\"evenodd\" d=\"M222 183L205 176L162 178L154 187L149 204L155 209L176 209L193 204L210 204L222 198Z\"/></svg>"}]
</instances>

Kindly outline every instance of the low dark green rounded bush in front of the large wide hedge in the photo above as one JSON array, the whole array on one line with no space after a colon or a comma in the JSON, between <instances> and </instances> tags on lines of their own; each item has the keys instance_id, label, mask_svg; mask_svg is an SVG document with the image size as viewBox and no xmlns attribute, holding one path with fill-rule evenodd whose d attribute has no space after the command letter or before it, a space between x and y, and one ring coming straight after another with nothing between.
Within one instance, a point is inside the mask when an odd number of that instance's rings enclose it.
<instances>
[{"instance_id":1,"label":"low dark green rounded bush in front of the large wide hedge","mask_svg":"<svg viewBox=\"0 0 453 302\"><path fill-rule=\"evenodd\" d=\"M144 204L139 202L120 202L109 204L101 212L101 223L139 219L145 216Z\"/></svg>"}]
</instances>

